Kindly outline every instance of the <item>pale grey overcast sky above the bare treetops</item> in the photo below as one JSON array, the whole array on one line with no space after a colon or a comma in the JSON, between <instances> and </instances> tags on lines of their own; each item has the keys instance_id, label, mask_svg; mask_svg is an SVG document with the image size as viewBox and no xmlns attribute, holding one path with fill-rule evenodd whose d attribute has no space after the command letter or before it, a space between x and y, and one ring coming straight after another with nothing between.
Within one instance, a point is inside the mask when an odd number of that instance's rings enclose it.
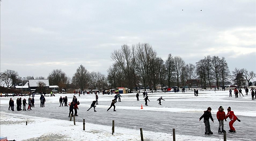
<instances>
[{"instance_id":1,"label":"pale grey overcast sky above the bare treetops","mask_svg":"<svg viewBox=\"0 0 256 141\"><path fill-rule=\"evenodd\" d=\"M0 71L44 76L79 65L107 75L111 52L149 43L195 64L225 57L256 72L255 0L2 0ZM183 10L182 10L183 9ZM202 10L202 11L201 11Z\"/></svg>"}]
</instances>

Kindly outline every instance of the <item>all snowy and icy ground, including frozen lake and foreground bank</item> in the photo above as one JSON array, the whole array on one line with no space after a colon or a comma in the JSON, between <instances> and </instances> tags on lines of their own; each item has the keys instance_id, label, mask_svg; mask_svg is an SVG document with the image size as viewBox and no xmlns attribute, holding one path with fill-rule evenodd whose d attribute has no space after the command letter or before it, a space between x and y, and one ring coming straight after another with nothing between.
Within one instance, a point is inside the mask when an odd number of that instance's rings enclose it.
<instances>
[{"instance_id":1,"label":"all snowy and icy ground, including frozen lake and foreground bank","mask_svg":"<svg viewBox=\"0 0 256 141\"><path fill-rule=\"evenodd\" d=\"M256 139L256 101L251 96L243 95L237 99L229 97L228 90L199 91L199 96L193 92L156 92L148 93L148 106L145 106L143 95L140 93L121 94L122 102L117 102L107 112L113 95L98 95L97 112L93 108L86 111L93 100L94 94L76 97L80 101L76 125L73 119L69 121L69 107L59 107L59 97L67 96L72 101L74 94L56 94L46 96L45 107L40 107L39 95L35 95L35 108L30 111L8 110L10 97L0 98L0 134L9 140L16 141L140 141L140 130L143 128L144 141L172 141L173 128L176 131L176 141L223 141L223 134L218 134L219 122L216 113L223 106L227 113L230 106L241 122L236 121L236 133L227 132L228 141L254 141ZM158 105L158 99L163 96L165 101ZM28 99L28 96L22 99ZM69 103L68 102L68 103ZM141 109L141 104L143 109ZM204 135L204 123L198 121L207 107L212 108L214 123L210 122L213 135ZM85 119L85 130L83 130ZM112 120L115 121L115 133L111 134ZM227 119L228 122L230 119ZM28 125L26 125L26 121ZM228 122L224 129L229 130Z\"/></svg>"}]
</instances>

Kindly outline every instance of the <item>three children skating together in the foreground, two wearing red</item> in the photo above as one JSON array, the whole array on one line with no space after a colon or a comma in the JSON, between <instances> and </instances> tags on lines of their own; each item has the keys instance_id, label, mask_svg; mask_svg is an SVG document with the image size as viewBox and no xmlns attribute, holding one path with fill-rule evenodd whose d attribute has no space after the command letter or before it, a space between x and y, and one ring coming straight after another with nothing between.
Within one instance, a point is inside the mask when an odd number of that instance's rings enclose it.
<instances>
[{"instance_id":1,"label":"three children skating together in the foreground, two wearing red","mask_svg":"<svg viewBox=\"0 0 256 141\"><path fill-rule=\"evenodd\" d=\"M216 114L217 119L219 121L219 129L218 129L219 133L226 133L226 131L224 130L224 120L226 121L226 119L228 117L230 118L230 122L229 122L230 130L229 130L229 132L236 132L236 129L233 127L233 123L236 120L240 122L240 120L237 118L237 116L231 110L231 107L228 107L227 110L228 110L228 113L225 114L224 108L222 106L220 106L219 110ZM204 114L199 118L199 121L201 121L202 118L204 118L204 125L205 125L205 133L204 134L206 134L206 135L213 134L213 132L211 132L210 121L209 121L209 119L211 119L211 121L214 122L213 118L211 116L211 107L208 107L207 110L204 111Z\"/></svg>"}]
</instances>

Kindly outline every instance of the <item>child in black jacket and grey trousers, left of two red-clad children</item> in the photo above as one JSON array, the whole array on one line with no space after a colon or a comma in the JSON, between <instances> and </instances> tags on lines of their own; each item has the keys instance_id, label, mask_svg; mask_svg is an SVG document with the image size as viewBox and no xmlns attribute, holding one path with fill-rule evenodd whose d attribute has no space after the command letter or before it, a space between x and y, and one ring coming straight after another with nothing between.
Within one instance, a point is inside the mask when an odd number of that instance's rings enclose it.
<instances>
[{"instance_id":1,"label":"child in black jacket and grey trousers, left of two red-clad children","mask_svg":"<svg viewBox=\"0 0 256 141\"><path fill-rule=\"evenodd\" d=\"M206 135L213 134L211 132L210 128L210 121L209 119L211 118L211 121L213 122L213 118L211 116L211 107L208 107L206 111L204 111L204 114L199 118L199 121L204 117L204 125L205 125L205 133Z\"/></svg>"}]
</instances>

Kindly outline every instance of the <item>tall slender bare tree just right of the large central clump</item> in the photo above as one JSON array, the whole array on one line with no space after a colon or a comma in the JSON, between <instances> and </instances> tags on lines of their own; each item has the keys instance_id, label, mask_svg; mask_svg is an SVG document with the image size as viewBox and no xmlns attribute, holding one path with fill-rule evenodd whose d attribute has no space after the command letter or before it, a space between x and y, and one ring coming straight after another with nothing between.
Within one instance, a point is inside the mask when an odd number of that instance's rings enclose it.
<instances>
[{"instance_id":1,"label":"tall slender bare tree just right of the large central clump","mask_svg":"<svg viewBox=\"0 0 256 141\"><path fill-rule=\"evenodd\" d=\"M174 73L174 58L172 56L172 54L168 54L168 58L165 61L165 67L166 67L166 79L168 82L168 87L171 87L171 80L173 77L173 73Z\"/></svg>"}]
</instances>

